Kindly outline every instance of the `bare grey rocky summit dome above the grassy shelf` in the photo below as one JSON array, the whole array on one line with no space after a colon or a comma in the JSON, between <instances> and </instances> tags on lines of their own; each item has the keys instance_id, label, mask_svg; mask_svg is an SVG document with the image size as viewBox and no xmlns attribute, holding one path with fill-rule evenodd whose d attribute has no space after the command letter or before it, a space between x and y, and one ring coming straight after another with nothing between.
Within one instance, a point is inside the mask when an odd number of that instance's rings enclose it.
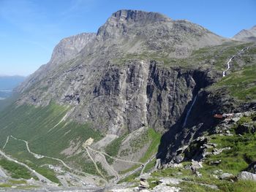
<instances>
[{"instance_id":1,"label":"bare grey rocky summit dome above the grassy shelf","mask_svg":"<svg viewBox=\"0 0 256 192\"><path fill-rule=\"evenodd\" d=\"M199 47L222 44L224 40L187 20L172 20L157 12L138 10L114 12L97 32L97 42L102 47L118 45L118 50L132 54L161 50L178 58L187 57Z\"/></svg>"}]
</instances>

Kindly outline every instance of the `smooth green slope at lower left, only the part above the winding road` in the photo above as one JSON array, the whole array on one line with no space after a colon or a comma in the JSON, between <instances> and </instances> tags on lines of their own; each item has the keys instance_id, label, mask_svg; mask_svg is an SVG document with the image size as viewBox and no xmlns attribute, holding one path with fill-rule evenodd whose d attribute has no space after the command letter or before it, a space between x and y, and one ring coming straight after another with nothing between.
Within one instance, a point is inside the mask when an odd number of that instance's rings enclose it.
<instances>
[{"instance_id":1,"label":"smooth green slope at lower left, only the part above the winding road","mask_svg":"<svg viewBox=\"0 0 256 192\"><path fill-rule=\"evenodd\" d=\"M67 106L53 103L47 107L10 107L0 114L0 146L4 147L7 137L12 135L29 142L30 150L34 153L66 158L67 155L61 151L67 149L70 143L82 145L89 137L96 140L101 137L99 131L94 131L89 123L79 124L65 119L69 110ZM7 145L12 145L12 142Z\"/></svg>"}]
</instances>

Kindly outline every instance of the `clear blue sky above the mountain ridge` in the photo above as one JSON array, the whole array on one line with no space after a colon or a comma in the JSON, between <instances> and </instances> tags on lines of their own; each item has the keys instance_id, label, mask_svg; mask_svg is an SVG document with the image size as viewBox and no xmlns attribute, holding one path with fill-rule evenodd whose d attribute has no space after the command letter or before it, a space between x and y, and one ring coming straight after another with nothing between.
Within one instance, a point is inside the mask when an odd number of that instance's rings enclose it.
<instances>
[{"instance_id":1,"label":"clear blue sky above the mountain ridge","mask_svg":"<svg viewBox=\"0 0 256 192\"><path fill-rule=\"evenodd\" d=\"M256 25L255 0L0 0L0 74L31 74L62 38L97 32L118 9L161 12L223 37Z\"/></svg>"}]
</instances>

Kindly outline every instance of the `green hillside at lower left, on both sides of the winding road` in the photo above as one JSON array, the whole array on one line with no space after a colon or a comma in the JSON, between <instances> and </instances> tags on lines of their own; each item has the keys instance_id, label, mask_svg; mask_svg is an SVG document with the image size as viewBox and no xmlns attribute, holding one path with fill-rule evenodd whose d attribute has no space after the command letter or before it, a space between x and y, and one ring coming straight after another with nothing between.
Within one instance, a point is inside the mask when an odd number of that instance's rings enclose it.
<instances>
[{"instance_id":1,"label":"green hillside at lower left, on both sides of the winding road","mask_svg":"<svg viewBox=\"0 0 256 192\"><path fill-rule=\"evenodd\" d=\"M96 141L102 138L99 131L95 131L90 123L79 124L71 120L63 120L69 107L51 103L47 107L34 107L29 105L8 107L0 113L0 147L4 147L7 137L12 135L18 139L29 142L29 148L33 153L61 158L65 163L77 169L87 171L83 164L88 161L83 157L83 150L78 151L76 158L69 158L66 153L61 153L72 145L78 149L89 137ZM70 148L72 150L72 148ZM37 169L42 164L59 164L50 158L35 158L26 149L26 143L10 137L4 151L18 158L29 166ZM88 162L89 163L89 162ZM89 172L94 170L89 169ZM51 173L38 169L42 174Z\"/></svg>"}]
</instances>

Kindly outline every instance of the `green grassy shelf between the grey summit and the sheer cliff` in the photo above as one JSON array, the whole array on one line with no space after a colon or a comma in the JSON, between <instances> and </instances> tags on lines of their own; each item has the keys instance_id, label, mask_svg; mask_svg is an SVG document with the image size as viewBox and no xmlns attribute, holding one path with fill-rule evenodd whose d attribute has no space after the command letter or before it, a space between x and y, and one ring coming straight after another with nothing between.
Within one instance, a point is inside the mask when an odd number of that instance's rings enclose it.
<instances>
[{"instance_id":1,"label":"green grassy shelf between the grey summit and the sheer cliff","mask_svg":"<svg viewBox=\"0 0 256 192\"><path fill-rule=\"evenodd\" d=\"M226 42L222 45L203 47L192 52L188 58L171 58L170 55L164 55L162 52L154 53L140 53L140 54L126 54L121 58L113 59L113 63L117 65L125 64L129 60L153 60L158 61L165 67L178 67L183 68L204 68L223 71L227 68L227 61L241 51L244 47L252 46L254 49L249 50L249 54L255 54L255 45L252 43L241 42ZM245 58L244 59L248 59ZM237 64L236 64L237 66Z\"/></svg>"}]
</instances>

